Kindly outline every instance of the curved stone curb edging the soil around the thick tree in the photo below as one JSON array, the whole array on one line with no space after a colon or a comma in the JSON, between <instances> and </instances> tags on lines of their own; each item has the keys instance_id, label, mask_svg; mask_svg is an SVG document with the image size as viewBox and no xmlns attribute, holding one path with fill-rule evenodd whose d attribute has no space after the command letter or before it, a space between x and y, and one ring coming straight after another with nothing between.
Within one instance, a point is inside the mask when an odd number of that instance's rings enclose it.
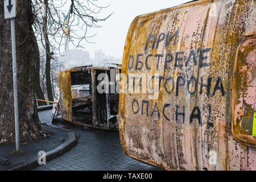
<instances>
[{"instance_id":1,"label":"curved stone curb edging the soil around the thick tree","mask_svg":"<svg viewBox=\"0 0 256 182\"><path fill-rule=\"evenodd\" d=\"M60 127L57 127L57 128L61 129ZM66 142L61 144L59 147L46 152L46 161L56 158L57 156L64 154L65 152L71 150L71 148L76 146L77 139L76 139L73 131L68 131L68 135L69 135L69 139ZM25 170L34 168L36 166L39 166L39 164L38 164L39 158L40 158L40 156L36 156L36 157L28 160L27 163L18 163L16 165L14 164L14 166L12 168L7 169L7 171L25 171Z\"/></svg>"}]
</instances>

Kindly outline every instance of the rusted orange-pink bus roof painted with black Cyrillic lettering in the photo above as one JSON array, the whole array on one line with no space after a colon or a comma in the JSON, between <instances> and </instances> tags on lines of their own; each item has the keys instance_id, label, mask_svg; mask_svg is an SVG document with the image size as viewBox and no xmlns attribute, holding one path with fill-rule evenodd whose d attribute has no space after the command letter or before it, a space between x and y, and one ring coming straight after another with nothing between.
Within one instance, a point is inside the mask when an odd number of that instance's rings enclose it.
<instances>
[{"instance_id":1,"label":"rusted orange-pink bus roof painted with black Cyrillic lettering","mask_svg":"<svg viewBox=\"0 0 256 182\"><path fill-rule=\"evenodd\" d=\"M256 170L254 40L244 48L255 19L255 0L205 0L133 20L119 96L127 155L169 170Z\"/></svg>"}]
</instances>

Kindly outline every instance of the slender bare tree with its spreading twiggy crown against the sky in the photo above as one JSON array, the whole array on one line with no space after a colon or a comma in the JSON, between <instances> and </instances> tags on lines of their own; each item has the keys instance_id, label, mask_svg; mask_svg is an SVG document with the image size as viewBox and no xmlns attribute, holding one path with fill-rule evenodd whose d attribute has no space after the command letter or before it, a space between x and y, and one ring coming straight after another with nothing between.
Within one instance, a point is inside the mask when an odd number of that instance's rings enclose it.
<instances>
[{"instance_id":1,"label":"slender bare tree with its spreading twiggy crown against the sky","mask_svg":"<svg viewBox=\"0 0 256 182\"><path fill-rule=\"evenodd\" d=\"M108 6L98 6L94 0L86 1L53 1L53 0L34 0L34 13L36 21L34 29L41 40L42 46L46 50L46 85L47 96L49 101L53 101L53 86L51 81L51 59L55 49L60 53L60 46L65 46L67 42L71 42L75 47L83 47L82 42L85 40L90 43L87 36L88 28L100 27L97 22L104 21L109 18L107 16L103 19L96 18L100 11ZM63 13L65 3L71 2L68 13ZM41 16L39 15L41 14ZM81 35L77 30L82 30ZM52 40L52 42L50 41ZM38 72L37 72L38 74Z\"/></svg>"}]
</instances>

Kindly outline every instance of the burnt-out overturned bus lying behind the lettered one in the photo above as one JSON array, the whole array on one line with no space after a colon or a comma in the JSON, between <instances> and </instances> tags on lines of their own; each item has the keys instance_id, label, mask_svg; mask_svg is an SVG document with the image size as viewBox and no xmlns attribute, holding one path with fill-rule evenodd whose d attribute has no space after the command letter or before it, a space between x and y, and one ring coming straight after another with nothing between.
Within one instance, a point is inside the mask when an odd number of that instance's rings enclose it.
<instances>
[{"instance_id":1,"label":"burnt-out overturned bus lying behind the lettered one","mask_svg":"<svg viewBox=\"0 0 256 182\"><path fill-rule=\"evenodd\" d=\"M119 64L88 65L59 73L60 115L98 129L118 129Z\"/></svg>"}]
</instances>

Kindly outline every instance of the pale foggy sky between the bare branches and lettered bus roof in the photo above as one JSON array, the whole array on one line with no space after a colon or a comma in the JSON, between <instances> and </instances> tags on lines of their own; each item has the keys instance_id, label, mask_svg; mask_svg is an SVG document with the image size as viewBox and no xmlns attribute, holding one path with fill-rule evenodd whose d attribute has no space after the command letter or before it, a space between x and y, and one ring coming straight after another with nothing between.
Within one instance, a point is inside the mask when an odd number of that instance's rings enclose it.
<instances>
[{"instance_id":1,"label":"pale foggy sky between the bare branches and lettered bus roof","mask_svg":"<svg viewBox=\"0 0 256 182\"><path fill-rule=\"evenodd\" d=\"M98 18L105 18L107 15L114 12L105 22L100 22L100 28L93 28L86 35L96 36L90 38L94 44L83 43L85 49L90 53L90 57L94 58L94 51L102 49L105 55L112 55L122 60L123 48L127 31L133 19L141 14L151 13L168 7L180 5L189 0L99 0L98 5L110 6L103 9ZM69 49L75 48L69 44ZM63 47L64 49L64 47ZM81 48L80 48L81 49Z\"/></svg>"}]
</instances>

